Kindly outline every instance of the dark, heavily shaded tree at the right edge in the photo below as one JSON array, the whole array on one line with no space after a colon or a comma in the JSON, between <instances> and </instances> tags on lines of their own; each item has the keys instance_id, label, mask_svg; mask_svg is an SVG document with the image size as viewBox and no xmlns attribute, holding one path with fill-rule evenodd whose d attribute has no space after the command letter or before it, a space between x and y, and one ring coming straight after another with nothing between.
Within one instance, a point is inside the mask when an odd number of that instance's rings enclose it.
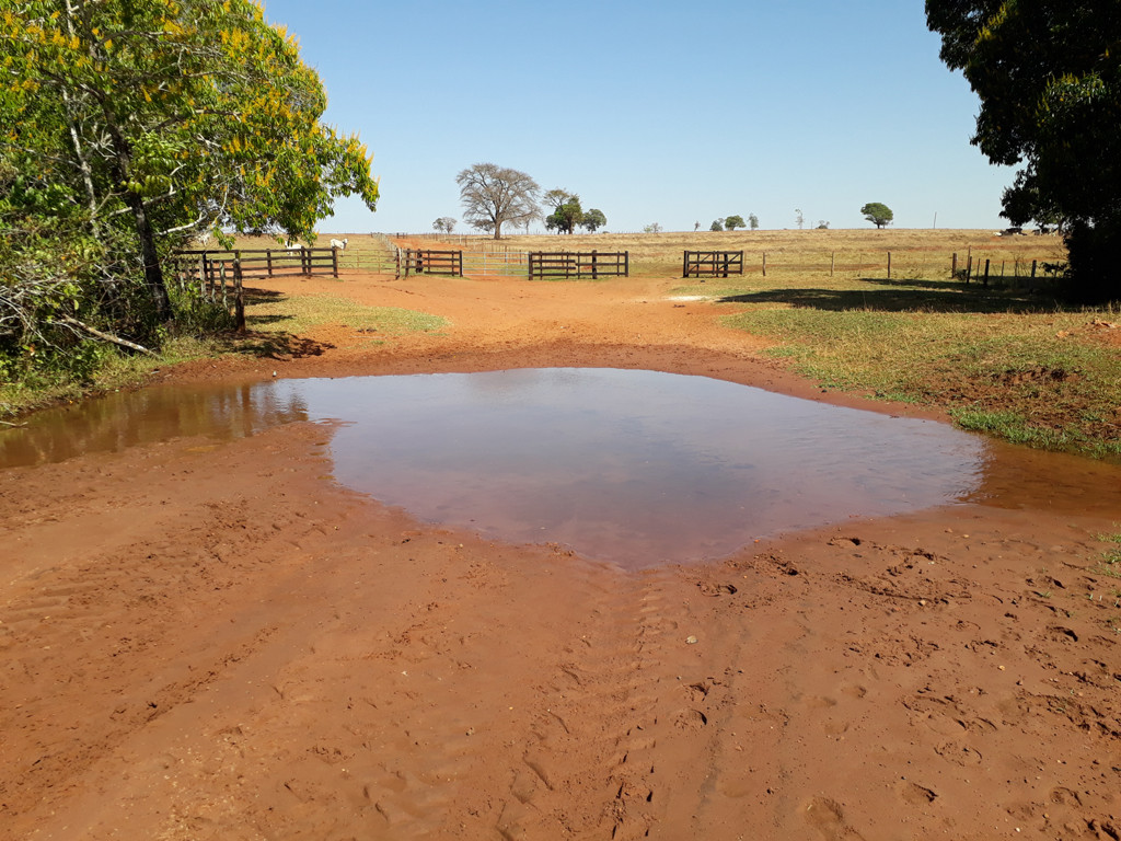
<instances>
[{"instance_id":1,"label":"dark, heavily shaded tree at the right edge","mask_svg":"<svg viewBox=\"0 0 1121 841\"><path fill-rule=\"evenodd\" d=\"M1118 293L1121 251L1121 13L1115 0L927 0L942 59L981 100L973 144L1021 165L1013 224L1063 221L1084 299Z\"/></svg>"}]
</instances>

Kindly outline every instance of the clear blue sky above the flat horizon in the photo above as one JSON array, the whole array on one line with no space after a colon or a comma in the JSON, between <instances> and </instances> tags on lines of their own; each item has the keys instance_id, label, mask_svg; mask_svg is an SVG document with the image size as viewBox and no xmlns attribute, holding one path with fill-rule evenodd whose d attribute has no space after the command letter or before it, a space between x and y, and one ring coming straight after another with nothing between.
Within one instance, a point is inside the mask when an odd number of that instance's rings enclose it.
<instances>
[{"instance_id":1,"label":"clear blue sky above the flat horizon","mask_svg":"<svg viewBox=\"0 0 1121 841\"><path fill-rule=\"evenodd\" d=\"M377 213L337 203L322 232L430 231L461 219L476 163L599 207L608 230L1002 228L1013 172L970 145L978 100L938 61L921 0L265 0L358 132ZM460 223L456 231L469 229Z\"/></svg>"}]
</instances>

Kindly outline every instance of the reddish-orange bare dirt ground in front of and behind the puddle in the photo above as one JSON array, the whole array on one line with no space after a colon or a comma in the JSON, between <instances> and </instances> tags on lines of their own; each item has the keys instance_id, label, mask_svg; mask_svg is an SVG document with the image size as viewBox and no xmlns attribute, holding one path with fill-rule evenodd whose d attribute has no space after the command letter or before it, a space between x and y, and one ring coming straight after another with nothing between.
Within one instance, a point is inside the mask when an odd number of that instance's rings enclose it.
<instances>
[{"instance_id":1,"label":"reddish-orange bare dirt ground in front of and behind the puddle","mask_svg":"<svg viewBox=\"0 0 1121 841\"><path fill-rule=\"evenodd\" d=\"M277 283L451 325L163 376L586 364L871 405L670 286ZM0 472L0 838L1121 838L1108 492L627 573L381 507L332 433Z\"/></svg>"}]
</instances>

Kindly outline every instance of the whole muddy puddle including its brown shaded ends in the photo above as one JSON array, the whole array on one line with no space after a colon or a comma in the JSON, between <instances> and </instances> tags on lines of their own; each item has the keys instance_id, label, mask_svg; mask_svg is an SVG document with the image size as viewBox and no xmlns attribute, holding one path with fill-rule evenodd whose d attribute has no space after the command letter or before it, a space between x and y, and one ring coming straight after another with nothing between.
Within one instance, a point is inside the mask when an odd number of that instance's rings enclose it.
<instances>
[{"instance_id":1,"label":"whole muddy puddle including its brown shaded ends","mask_svg":"<svg viewBox=\"0 0 1121 841\"><path fill-rule=\"evenodd\" d=\"M0 434L0 464L327 419L341 422L334 473L351 488L425 520L633 569L961 501L1121 514L1111 465L722 380L614 369L148 389Z\"/></svg>"}]
</instances>

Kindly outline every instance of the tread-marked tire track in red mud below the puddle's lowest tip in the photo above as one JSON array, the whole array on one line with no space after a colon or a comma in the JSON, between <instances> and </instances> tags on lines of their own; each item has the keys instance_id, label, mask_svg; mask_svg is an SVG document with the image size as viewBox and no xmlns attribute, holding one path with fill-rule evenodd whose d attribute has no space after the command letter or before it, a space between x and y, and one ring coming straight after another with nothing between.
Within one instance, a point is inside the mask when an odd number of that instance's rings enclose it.
<instances>
[{"instance_id":1,"label":"tread-marked tire track in red mud below the puddle's lowest tip","mask_svg":"<svg viewBox=\"0 0 1121 841\"><path fill-rule=\"evenodd\" d=\"M564 646L512 769L502 838L645 838L661 804L670 573L614 573ZM673 680L671 677L669 680Z\"/></svg>"}]
</instances>

